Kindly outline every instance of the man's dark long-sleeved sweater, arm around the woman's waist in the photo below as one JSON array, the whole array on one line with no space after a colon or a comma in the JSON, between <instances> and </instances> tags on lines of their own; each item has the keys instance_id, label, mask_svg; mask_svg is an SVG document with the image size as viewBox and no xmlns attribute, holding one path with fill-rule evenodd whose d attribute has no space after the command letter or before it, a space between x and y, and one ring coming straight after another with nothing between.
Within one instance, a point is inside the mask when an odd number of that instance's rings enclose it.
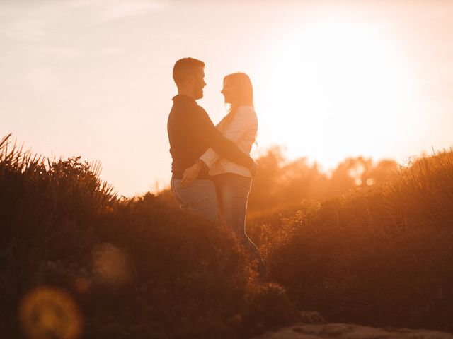
<instances>
[{"instance_id":1,"label":"man's dark long-sleeved sweater, arm around the woman's waist","mask_svg":"<svg viewBox=\"0 0 453 339\"><path fill-rule=\"evenodd\" d=\"M239 165L251 167L253 160L243 153L232 141L216 129L205 109L188 95L173 97L173 107L167 123L172 179L183 179L185 169L195 164L208 148ZM207 169L200 172L198 179L210 179Z\"/></svg>"}]
</instances>

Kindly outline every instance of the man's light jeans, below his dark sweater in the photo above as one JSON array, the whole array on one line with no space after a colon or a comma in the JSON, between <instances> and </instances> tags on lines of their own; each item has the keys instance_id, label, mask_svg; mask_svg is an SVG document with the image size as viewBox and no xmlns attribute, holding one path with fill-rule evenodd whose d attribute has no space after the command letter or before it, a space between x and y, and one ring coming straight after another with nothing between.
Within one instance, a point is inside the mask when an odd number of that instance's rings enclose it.
<instances>
[{"instance_id":1,"label":"man's light jeans, below his dark sweater","mask_svg":"<svg viewBox=\"0 0 453 339\"><path fill-rule=\"evenodd\" d=\"M195 180L183 189L181 179L171 179L171 192L181 209L193 210L207 220L217 220L217 195L212 180Z\"/></svg>"}]
</instances>

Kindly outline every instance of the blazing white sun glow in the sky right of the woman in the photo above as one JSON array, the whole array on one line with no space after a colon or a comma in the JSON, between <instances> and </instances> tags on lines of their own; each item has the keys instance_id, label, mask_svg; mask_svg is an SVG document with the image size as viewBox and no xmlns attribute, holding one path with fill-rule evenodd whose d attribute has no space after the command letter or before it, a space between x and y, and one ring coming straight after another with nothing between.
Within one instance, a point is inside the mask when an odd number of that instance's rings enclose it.
<instances>
[{"instance_id":1,"label":"blazing white sun glow in the sky right of the woman","mask_svg":"<svg viewBox=\"0 0 453 339\"><path fill-rule=\"evenodd\" d=\"M262 74L263 133L328 167L384 154L411 112L403 54L382 27L324 20L291 28ZM264 121L263 121L264 120Z\"/></svg>"}]
</instances>

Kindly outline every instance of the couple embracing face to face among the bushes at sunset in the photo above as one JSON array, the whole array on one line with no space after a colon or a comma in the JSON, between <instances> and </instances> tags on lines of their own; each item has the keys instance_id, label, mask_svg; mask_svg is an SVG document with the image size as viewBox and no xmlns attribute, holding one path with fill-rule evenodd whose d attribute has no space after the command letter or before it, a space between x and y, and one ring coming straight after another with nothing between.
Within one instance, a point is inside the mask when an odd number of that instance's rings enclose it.
<instances>
[{"instance_id":1,"label":"couple embracing face to face among the bushes at sunset","mask_svg":"<svg viewBox=\"0 0 453 339\"><path fill-rule=\"evenodd\" d=\"M173 196L181 208L208 220L217 221L221 215L263 276L265 265L245 228L252 176L258 172L249 155L258 130L250 78L244 73L225 76L221 93L229 110L217 126L195 101L203 97L205 64L180 59L173 67L173 80L178 95L167 125Z\"/></svg>"}]
</instances>

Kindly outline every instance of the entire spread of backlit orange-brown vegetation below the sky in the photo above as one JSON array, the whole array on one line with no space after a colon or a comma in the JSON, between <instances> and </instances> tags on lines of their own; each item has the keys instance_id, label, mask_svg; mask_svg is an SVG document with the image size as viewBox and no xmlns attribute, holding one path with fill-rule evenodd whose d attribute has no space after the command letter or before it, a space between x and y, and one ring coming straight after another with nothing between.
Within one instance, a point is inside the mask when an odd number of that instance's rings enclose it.
<instances>
[{"instance_id":1,"label":"entire spread of backlit orange-brown vegetation below the sky","mask_svg":"<svg viewBox=\"0 0 453 339\"><path fill-rule=\"evenodd\" d=\"M231 232L183 213L168 191L117 198L99 165L33 157L9 140L0 141L5 338L23 338L18 313L45 295L37 287L68 293L83 338L248 338L297 320L297 309L453 331L452 150L403 169L347 159L331 174L269 150L248 231L274 283L258 283ZM49 295L30 311L47 331L55 316L40 321L38 311L71 319Z\"/></svg>"}]
</instances>

